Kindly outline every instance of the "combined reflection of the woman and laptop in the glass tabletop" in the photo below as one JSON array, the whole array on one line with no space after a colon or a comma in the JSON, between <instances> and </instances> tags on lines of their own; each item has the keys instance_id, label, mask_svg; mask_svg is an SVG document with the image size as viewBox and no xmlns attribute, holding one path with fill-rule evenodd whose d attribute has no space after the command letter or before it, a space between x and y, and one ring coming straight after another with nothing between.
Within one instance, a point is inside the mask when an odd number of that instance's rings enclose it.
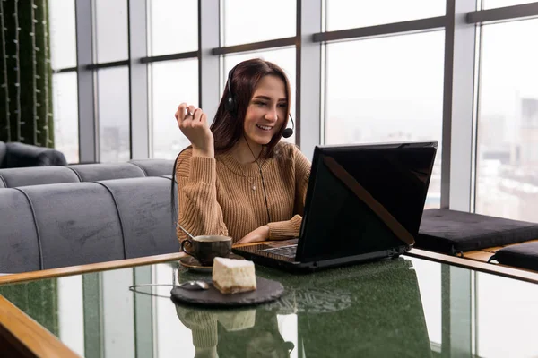
<instances>
[{"instance_id":1,"label":"combined reflection of the woman and laptop in the glass tabletop","mask_svg":"<svg viewBox=\"0 0 538 358\"><path fill-rule=\"evenodd\" d=\"M264 273L262 273L263 275ZM192 279L179 272L179 279ZM196 357L288 357L277 315L295 314L299 356L431 355L421 294L409 260L288 277L281 299L239 310L176 305Z\"/></svg>"}]
</instances>

